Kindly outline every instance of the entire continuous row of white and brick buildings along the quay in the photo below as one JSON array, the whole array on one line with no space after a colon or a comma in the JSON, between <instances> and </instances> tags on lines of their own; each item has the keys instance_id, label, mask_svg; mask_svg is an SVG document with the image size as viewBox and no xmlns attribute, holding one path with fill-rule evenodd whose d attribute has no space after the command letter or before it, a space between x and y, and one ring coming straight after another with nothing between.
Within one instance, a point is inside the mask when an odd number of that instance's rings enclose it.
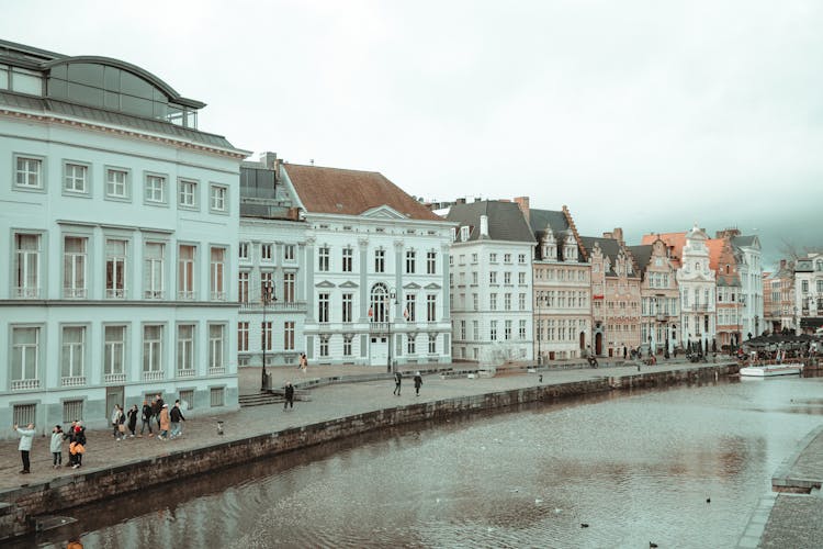
<instances>
[{"instance_id":1,"label":"entire continuous row of white and brick buildings along the quay","mask_svg":"<svg viewBox=\"0 0 823 549\"><path fill-rule=\"evenodd\" d=\"M119 59L0 41L0 423L101 427L156 393L223 413L238 368L302 354L385 371L757 330L756 238L627 246L528 199L439 212L379 172L247 161L204 107Z\"/></svg>"}]
</instances>

